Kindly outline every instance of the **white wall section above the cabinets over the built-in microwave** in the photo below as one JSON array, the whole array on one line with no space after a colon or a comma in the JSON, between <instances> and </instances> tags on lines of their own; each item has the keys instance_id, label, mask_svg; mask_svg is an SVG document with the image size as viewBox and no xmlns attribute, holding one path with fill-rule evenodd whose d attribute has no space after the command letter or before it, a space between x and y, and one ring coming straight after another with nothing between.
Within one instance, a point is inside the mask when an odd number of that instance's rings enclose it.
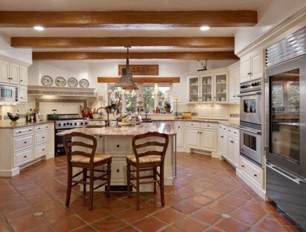
<instances>
[{"instance_id":1,"label":"white wall section above the cabinets over the built-in microwave","mask_svg":"<svg viewBox=\"0 0 306 232\"><path fill-rule=\"evenodd\" d=\"M11 38L0 34L0 55L32 64L32 48L11 47Z\"/></svg>"}]
</instances>

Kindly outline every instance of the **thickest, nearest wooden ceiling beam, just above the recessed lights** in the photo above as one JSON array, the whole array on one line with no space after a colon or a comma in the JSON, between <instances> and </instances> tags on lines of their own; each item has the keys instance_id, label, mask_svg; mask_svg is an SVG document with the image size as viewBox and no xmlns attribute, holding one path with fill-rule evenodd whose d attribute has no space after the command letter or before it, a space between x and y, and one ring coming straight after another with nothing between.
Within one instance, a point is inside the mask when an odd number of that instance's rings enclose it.
<instances>
[{"instance_id":1,"label":"thickest, nearest wooden ceiling beam, just above the recessed lights","mask_svg":"<svg viewBox=\"0 0 306 232\"><path fill-rule=\"evenodd\" d=\"M252 27L257 11L0 11L0 27Z\"/></svg>"}]
</instances>

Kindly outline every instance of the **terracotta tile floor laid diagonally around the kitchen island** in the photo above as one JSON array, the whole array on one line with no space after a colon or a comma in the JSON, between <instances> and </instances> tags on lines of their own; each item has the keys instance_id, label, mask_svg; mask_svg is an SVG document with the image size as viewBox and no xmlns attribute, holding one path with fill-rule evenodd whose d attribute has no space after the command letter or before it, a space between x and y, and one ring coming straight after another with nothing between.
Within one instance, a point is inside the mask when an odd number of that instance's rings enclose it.
<instances>
[{"instance_id":1,"label":"terracotta tile floor laid diagonally around the kitchen island","mask_svg":"<svg viewBox=\"0 0 306 232\"><path fill-rule=\"evenodd\" d=\"M40 161L13 178L0 178L0 231L298 231L235 174L226 161L177 154L177 179L159 192L94 194L93 211L75 187L65 208L66 158ZM43 212L41 216L33 216ZM229 214L231 218L222 218Z\"/></svg>"}]
</instances>

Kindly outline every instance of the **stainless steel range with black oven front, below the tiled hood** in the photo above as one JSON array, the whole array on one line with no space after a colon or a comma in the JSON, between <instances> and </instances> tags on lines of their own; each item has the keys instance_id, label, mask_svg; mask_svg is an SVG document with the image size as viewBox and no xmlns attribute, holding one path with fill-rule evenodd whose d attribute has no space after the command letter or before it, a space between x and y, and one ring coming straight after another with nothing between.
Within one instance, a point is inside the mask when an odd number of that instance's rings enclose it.
<instances>
[{"instance_id":1,"label":"stainless steel range with black oven front, below the tiled hood","mask_svg":"<svg viewBox=\"0 0 306 232\"><path fill-rule=\"evenodd\" d=\"M48 120L55 120L55 156L66 154L63 137L56 136L58 132L67 131L73 128L86 127L89 124L89 119L80 118L79 114L61 114L59 118L54 119L53 115L47 115Z\"/></svg>"}]
</instances>

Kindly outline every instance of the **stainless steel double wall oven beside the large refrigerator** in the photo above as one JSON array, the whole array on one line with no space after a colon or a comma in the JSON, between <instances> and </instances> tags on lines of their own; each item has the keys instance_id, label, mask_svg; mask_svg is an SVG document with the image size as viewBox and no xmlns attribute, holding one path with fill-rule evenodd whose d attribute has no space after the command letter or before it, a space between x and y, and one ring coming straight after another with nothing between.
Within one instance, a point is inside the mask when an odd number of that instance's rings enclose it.
<instances>
[{"instance_id":1,"label":"stainless steel double wall oven beside the large refrigerator","mask_svg":"<svg viewBox=\"0 0 306 232\"><path fill-rule=\"evenodd\" d=\"M262 82L240 84L240 153L262 166Z\"/></svg>"}]
</instances>

